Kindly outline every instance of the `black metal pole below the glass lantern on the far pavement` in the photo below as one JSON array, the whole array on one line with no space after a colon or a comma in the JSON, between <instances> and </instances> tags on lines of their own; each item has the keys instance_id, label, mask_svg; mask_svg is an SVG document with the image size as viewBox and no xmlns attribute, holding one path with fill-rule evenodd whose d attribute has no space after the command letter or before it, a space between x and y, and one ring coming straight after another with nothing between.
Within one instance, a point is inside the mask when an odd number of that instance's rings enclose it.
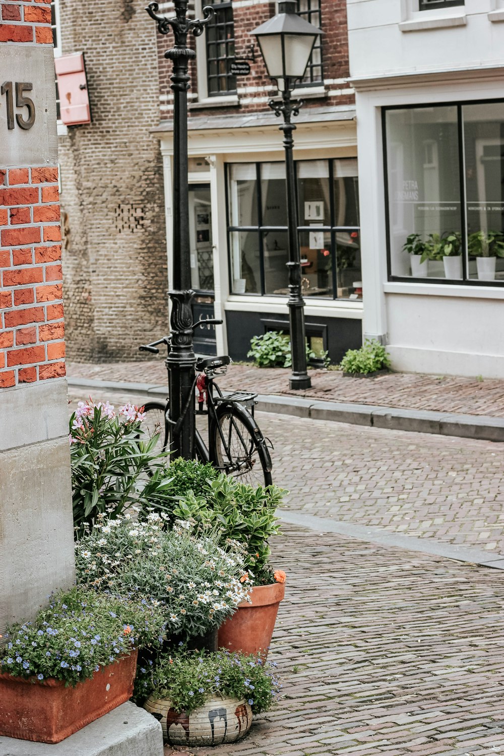
<instances>
[{"instance_id":1,"label":"black metal pole below the glass lantern on the far pavement","mask_svg":"<svg viewBox=\"0 0 504 756\"><path fill-rule=\"evenodd\" d=\"M283 146L286 153L286 189L287 189L287 226L289 236L289 324L290 324L290 350L292 355L292 373L289 377L289 387L291 389L309 389L311 379L308 376L306 361L306 334L305 334L305 300L303 299L301 289L301 257L299 255L298 239L298 208L295 197L295 170L294 156L294 138L292 132L295 130L295 124L291 122L292 116L297 116L301 103L293 104L291 101L291 92L289 82L286 79L286 87L282 91L283 104L280 105L273 100L270 107L275 111L277 116L283 115L283 124L280 126L283 131Z\"/></svg>"}]
</instances>

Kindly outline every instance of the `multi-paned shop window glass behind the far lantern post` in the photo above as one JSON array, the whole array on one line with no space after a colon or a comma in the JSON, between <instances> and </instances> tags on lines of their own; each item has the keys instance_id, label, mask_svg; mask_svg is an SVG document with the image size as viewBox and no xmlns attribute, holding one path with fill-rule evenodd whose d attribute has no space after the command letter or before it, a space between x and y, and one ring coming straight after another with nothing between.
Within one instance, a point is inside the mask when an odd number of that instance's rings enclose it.
<instances>
[{"instance_id":1,"label":"multi-paned shop window glass behind the far lantern post","mask_svg":"<svg viewBox=\"0 0 504 756\"><path fill-rule=\"evenodd\" d=\"M360 299L357 160L296 164L303 294ZM286 295L285 163L228 166L231 290Z\"/></svg>"}]
</instances>

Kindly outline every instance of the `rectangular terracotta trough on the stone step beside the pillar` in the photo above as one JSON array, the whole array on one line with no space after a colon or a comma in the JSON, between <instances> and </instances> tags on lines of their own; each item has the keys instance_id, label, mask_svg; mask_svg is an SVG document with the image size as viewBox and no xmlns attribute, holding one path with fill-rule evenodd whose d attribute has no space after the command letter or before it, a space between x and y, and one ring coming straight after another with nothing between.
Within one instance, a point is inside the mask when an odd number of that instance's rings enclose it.
<instances>
[{"instance_id":1,"label":"rectangular terracotta trough on the stone step beside the pillar","mask_svg":"<svg viewBox=\"0 0 504 756\"><path fill-rule=\"evenodd\" d=\"M100 668L90 680L65 687L60 680L0 674L0 735L42 743L81 730L131 697L137 667L135 651Z\"/></svg>"}]
</instances>

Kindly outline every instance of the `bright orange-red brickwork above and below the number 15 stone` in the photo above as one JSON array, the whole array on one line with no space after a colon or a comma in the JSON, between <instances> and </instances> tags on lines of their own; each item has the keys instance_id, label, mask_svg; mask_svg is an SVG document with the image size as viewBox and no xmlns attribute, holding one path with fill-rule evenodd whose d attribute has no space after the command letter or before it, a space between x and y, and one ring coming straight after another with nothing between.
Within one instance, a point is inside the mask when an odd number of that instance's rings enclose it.
<instances>
[{"instance_id":1,"label":"bright orange-red brickwork above and below the number 15 stone","mask_svg":"<svg viewBox=\"0 0 504 756\"><path fill-rule=\"evenodd\" d=\"M50 0L0 17L0 43L52 44ZM0 162L0 388L65 374L60 239L57 168Z\"/></svg>"}]
</instances>

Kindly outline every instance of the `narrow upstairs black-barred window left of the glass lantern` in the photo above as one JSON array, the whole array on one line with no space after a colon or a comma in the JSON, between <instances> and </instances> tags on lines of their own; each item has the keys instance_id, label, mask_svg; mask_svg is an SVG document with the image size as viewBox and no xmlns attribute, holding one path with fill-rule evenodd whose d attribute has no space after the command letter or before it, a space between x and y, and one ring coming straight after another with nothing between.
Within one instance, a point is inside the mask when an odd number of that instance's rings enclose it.
<instances>
[{"instance_id":1,"label":"narrow upstairs black-barred window left of the glass lantern","mask_svg":"<svg viewBox=\"0 0 504 756\"><path fill-rule=\"evenodd\" d=\"M204 3L206 5L206 3ZM233 7L230 2L212 2L214 17L206 26L206 78L209 96L237 91L236 76L229 73L234 59Z\"/></svg>"}]
</instances>

